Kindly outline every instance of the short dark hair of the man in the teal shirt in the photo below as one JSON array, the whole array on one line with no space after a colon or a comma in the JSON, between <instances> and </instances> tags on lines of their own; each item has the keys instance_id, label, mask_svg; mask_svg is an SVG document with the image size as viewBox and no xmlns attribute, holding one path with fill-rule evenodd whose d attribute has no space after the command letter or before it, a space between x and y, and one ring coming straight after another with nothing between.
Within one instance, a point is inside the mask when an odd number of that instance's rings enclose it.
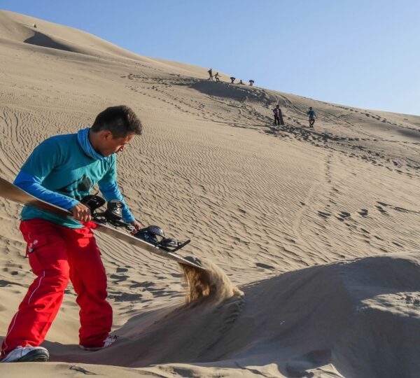
<instances>
[{"instance_id":1,"label":"short dark hair of the man in the teal shirt","mask_svg":"<svg viewBox=\"0 0 420 378\"><path fill-rule=\"evenodd\" d=\"M143 125L128 106L111 106L97 115L92 132L109 130L114 138L127 137L129 134L141 135Z\"/></svg>"}]
</instances>

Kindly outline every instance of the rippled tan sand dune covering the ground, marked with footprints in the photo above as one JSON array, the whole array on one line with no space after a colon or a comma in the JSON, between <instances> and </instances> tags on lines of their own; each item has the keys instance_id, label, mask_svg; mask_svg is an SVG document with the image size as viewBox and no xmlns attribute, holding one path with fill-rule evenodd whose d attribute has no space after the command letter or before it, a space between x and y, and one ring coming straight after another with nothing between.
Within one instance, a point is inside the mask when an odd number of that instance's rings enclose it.
<instances>
[{"instance_id":1,"label":"rippled tan sand dune covering the ground, marked with footprints","mask_svg":"<svg viewBox=\"0 0 420 378\"><path fill-rule=\"evenodd\" d=\"M144 135L118 156L120 188L141 223L192 239L180 254L212 288L186 300L175 262L99 235L118 343L78 348L69 286L50 362L0 377L420 377L419 116L214 83L209 67L7 11L0 62L0 176L131 106ZM20 209L0 198L0 339L34 279Z\"/></svg>"}]
</instances>

